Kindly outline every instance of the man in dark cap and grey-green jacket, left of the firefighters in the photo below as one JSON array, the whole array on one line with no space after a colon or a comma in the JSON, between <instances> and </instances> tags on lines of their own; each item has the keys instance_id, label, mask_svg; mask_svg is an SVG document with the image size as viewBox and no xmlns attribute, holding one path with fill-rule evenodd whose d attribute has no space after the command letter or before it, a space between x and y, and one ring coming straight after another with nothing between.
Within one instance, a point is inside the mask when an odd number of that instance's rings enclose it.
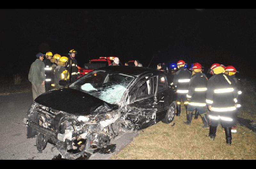
<instances>
[{"instance_id":1,"label":"man in dark cap and grey-green jacket, left of the firefighters","mask_svg":"<svg viewBox=\"0 0 256 169\"><path fill-rule=\"evenodd\" d=\"M38 53L36 54L36 58L35 62L31 64L28 73L28 80L32 84L33 100L45 92L44 55L42 53Z\"/></svg>"}]
</instances>

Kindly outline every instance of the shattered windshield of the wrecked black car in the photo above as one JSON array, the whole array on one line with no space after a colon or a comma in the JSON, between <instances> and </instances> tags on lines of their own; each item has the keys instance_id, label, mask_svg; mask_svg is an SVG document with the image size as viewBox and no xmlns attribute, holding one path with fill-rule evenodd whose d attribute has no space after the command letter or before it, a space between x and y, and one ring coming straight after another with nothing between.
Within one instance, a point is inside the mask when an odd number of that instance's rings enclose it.
<instances>
[{"instance_id":1,"label":"shattered windshield of the wrecked black car","mask_svg":"<svg viewBox=\"0 0 256 169\"><path fill-rule=\"evenodd\" d=\"M105 70L95 70L69 87L97 97L110 104L118 104L134 77Z\"/></svg>"}]
</instances>

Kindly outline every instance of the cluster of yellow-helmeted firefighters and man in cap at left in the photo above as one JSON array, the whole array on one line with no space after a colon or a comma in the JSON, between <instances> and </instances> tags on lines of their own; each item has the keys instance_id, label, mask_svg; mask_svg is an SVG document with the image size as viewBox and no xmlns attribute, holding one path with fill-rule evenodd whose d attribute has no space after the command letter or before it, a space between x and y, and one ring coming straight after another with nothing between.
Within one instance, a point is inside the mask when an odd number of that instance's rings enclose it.
<instances>
[{"instance_id":1,"label":"cluster of yellow-helmeted firefighters and man in cap at left","mask_svg":"<svg viewBox=\"0 0 256 169\"><path fill-rule=\"evenodd\" d=\"M75 56L77 51L71 49L69 58L60 56L59 54L36 54L36 61L30 66L28 80L32 83L33 99L35 100L40 94L51 90L52 88L60 88L60 80L66 80L69 84L73 83L79 75L77 61ZM44 59L45 56L45 59Z\"/></svg>"}]
</instances>

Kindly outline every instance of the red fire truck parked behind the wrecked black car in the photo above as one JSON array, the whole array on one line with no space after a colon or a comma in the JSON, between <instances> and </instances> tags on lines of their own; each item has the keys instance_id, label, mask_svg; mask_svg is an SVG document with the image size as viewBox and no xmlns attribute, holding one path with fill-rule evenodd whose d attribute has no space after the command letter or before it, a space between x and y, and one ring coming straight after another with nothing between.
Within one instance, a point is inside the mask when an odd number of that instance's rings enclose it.
<instances>
[{"instance_id":1,"label":"red fire truck parked behind the wrecked black car","mask_svg":"<svg viewBox=\"0 0 256 169\"><path fill-rule=\"evenodd\" d=\"M89 63L84 64L84 68L78 67L80 75L77 78L80 78L94 69L100 69L105 66L109 66L113 63L115 57L100 57L99 59L92 59Z\"/></svg>"}]
</instances>

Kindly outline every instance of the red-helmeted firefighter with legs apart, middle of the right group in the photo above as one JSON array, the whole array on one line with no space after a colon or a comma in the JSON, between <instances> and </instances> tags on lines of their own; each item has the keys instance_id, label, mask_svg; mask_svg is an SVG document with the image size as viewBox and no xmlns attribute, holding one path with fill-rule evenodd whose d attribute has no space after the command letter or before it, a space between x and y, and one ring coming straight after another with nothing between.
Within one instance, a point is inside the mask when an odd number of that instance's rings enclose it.
<instances>
[{"instance_id":1,"label":"red-helmeted firefighter with legs apart, middle of the right group","mask_svg":"<svg viewBox=\"0 0 256 169\"><path fill-rule=\"evenodd\" d=\"M196 110L202 118L204 123L203 128L208 128L208 117L206 111L206 91L207 91L207 77L202 73L202 66L200 63L193 63L192 76L188 87L188 112L187 121L185 124L190 125L193 111Z\"/></svg>"}]
</instances>

